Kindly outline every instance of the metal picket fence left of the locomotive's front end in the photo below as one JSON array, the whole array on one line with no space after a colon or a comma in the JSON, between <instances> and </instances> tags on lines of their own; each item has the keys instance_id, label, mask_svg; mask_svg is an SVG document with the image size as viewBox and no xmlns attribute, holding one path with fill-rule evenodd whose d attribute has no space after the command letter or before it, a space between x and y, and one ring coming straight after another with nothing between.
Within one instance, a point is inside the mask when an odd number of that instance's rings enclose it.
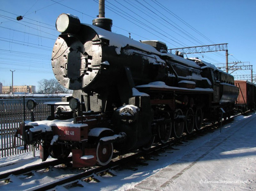
<instances>
[{"instance_id":1,"label":"metal picket fence left of the locomotive's front end","mask_svg":"<svg viewBox=\"0 0 256 191\"><path fill-rule=\"evenodd\" d=\"M39 103L34 109L36 121L45 120L49 115L50 107L46 104ZM0 158L32 151L31 145L27 150L18 150L24 143L15 137L20 123L30 120L30 111L24 108L24 104L0 104Z\"/></svg>"}]
</instances>

